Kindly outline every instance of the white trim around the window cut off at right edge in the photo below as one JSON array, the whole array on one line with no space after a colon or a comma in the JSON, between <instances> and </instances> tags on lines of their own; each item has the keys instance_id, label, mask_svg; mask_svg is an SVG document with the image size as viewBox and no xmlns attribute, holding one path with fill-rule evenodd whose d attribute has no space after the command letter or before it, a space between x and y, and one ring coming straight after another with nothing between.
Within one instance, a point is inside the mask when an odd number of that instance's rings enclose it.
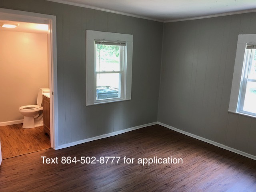
<instances>
[{"instance_id":1,"label":"white trim around the window cut off at right edge","mask_svg":"<svg viewBox=\"0 0 256 192\"><path fill-rule=\"evenodd\" d=\"M240 34L240 35L238 35L238 42L237 42L237 48L236 48L236 59L235 59L235 66L234 66L234 73L233 73L233 80L232 80L228 112L256 118L256 116L238 112L238 99L239 99L240 83L241 83L242 72L243 72L246 44L256 44L256 34Z\"/></svg>"}]
</instances>

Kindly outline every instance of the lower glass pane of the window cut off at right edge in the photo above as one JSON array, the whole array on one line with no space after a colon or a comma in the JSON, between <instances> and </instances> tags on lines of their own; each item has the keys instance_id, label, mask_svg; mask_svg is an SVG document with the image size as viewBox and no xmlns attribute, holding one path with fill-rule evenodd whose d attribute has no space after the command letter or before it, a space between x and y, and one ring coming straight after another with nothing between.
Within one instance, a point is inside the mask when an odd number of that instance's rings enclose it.
<instances>
[{"instance_id":1,"label":"lower glass pane of the window cut off at right edge","mask_svg":"<svg viewBox=\"0 0 256 192\"><path fill-rule=\"evenodd\" d=\"M256 82L247 82L244 98L244 111L256 114Z\"/></svg>"}]
</instances>

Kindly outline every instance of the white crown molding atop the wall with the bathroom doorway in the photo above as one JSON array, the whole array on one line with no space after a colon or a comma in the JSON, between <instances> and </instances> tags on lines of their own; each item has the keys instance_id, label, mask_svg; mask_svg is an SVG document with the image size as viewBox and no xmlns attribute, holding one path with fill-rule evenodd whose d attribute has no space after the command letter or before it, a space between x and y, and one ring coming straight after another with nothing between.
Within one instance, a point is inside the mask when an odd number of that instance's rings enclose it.
<instances>
[{"instance_id":1,"label":"white crown molding atop the wall with the bathroom doorway","mask_svg":"<svg viewBox=\"0 0 256 192\"><path fill-rule=\"evenodd\" d=\"M52 2L56 2L56 3L68 4L68 5L78 6L78 7L89 8L89 9L95 9L95 10L99 10L99 11L105 11L105 12L110 12L110 13L115 13L115 14L120 14L120 15L125 15L125 16L131 16L131 17L136 17L136 18L141 18L141 19L147 19L147 20L152 20L152 21L157 21L157 22L164 22L164 20L158 20L158 19L154 19L154 18L124 13L124 12L99 8L99 7L94 7L94 6L85 5L85 4L81 4L81 3L68 2L65 0L46 0L46 1L52 1Z\"/></svg>"}]
</instances>

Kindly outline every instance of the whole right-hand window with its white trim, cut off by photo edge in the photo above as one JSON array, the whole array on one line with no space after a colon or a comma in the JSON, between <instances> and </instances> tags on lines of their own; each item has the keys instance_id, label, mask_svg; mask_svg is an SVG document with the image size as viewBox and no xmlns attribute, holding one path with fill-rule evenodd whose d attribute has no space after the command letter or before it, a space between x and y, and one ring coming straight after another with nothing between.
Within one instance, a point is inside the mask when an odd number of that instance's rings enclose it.
<instances>
[{"instance_id":1,"label":"whole right-hand window with its white trim, cut off by photo edge","mask_svg":"<svg viewBox=\"0 0 256 192\"><path fill-rule=\"evenodd\" d=\"M238 36L229 111L256 117L256 34Z\"/></svg>"}]
</instances>

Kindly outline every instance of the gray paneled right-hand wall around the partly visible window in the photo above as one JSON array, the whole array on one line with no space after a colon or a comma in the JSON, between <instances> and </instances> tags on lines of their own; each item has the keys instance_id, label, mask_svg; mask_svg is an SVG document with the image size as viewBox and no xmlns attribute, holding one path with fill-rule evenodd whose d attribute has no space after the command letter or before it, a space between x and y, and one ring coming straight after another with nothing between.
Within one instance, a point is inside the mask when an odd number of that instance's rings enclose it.
<instances>
[{"instance_id":1,"label":"gray paneled right-hand wall around the partly visible window","mask_svg":"<svg viewBox=\"0 0 256 192\"><path fill-rule=\"evenodd\" d=\"M256 119L228 113L238 34L256 13L164 24L158 121L256 155Z\"/></svg>"}]
</instances>

